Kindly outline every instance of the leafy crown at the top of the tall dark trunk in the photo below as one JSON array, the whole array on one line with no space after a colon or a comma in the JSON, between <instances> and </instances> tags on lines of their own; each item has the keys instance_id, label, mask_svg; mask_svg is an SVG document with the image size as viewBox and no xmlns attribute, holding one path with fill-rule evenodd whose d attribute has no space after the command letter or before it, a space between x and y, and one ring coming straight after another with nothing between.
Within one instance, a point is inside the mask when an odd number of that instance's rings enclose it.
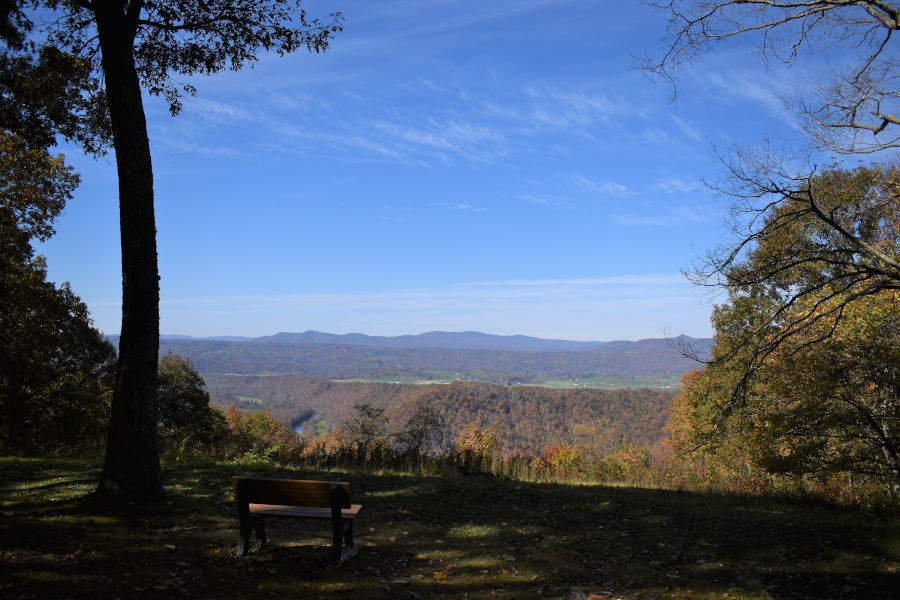
<instances>
[{"instance_id":1,"label":"leafy crown at the top of the tall dark trunk","mask_svg":"<svg viewBox=\"0 0 900 600\"><path fill-rule=\"evenodd\" d=\"M47 27L52 47L91 60L94 72L103 73L104 44L127 46L141 86L163 96L173 114L180 111L184 94L196 93L180 76L238 71L257 62L261 52L322 52L342 28L340 13L326 21L311 18L299 0L131 0L114 6L94 0L47 0L38 4L60 11ZM105 39L107 26L115 28L108 32L114 39Z\"/></svg>"}]
</instances>

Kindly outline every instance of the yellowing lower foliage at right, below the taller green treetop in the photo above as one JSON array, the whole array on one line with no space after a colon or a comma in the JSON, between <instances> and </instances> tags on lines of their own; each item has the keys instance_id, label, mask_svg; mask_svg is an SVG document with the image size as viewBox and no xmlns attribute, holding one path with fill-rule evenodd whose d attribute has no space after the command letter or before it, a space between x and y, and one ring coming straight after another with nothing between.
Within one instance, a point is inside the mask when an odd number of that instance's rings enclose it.
<instances>
[{"instance_id":1,"label":"yellowing lower foliage at right, below the taller green treetop","mask_svg":"<svg viewBox=\"0 0 900 600\"><path fill-rule=\"evenodd\" d=\"M855 478L896 498L898 315L900 294L885 291L846 307L836 326L816 323L809 335L827 329L827 338L791 338L746 383L739 406L731 402L739 362L714 361L685 377L670 424L676 447L703 450L732 470L750 461L773 474ZM733 317L719 313L717 325ZM720 344L723 353L732 350L727 339Z\"/></svg>"}]
</instances>

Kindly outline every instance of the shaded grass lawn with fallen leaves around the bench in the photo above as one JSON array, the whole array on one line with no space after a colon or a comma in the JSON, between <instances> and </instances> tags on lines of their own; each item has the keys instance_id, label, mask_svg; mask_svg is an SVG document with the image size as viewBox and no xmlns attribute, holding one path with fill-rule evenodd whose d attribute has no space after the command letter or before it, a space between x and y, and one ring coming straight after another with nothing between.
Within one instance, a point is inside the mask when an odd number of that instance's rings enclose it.
<instances>
[{"instance_id":1,"label":"shaded grass lawn with fallen leaves around the bench","mask_svg":"<svg viewBox=\"0 0 900 600\"><path fill-rule=\"evenodd\" d=\"M348 479L359 554L276 519L236 557L233 474ZM0 598L900 598L900 520L807 502L216 465L120 505L97 476L0 459Z\"/></svg>"}]
</instances>

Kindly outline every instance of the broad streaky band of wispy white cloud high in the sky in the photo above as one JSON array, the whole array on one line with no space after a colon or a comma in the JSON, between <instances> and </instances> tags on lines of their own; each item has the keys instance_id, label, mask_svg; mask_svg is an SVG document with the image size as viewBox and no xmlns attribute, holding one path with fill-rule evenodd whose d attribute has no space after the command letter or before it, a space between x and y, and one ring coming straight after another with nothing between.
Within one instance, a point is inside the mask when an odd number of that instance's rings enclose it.
<instances>
[{"instance_id":1,"label":"broad streaky band of wispy white cloud high in the sky","mask_svg":"<svg viewBox=\"0 0 900 600\"><path fill-rule=\"evenodd\" d=\"M456 73L446 80L417 75L365 93L353 86L321 95L286 85L259 93L253 87L254 93L237 91L227 101L191 99L185 118L202 125L193 134L198 147L242 138L235 150L266 147L309 154L329 149L347 162L417 166L496 164L534 156L559 160L577 156L586 141L610 143L613 131L636 137L629 132L637 128L625 125L644 119L634 98L610 96L596 83L572 82L565 88L558 83L529 83L492 72ZM173 124L171 130L183 126ZM615 143L624 141L619 136ZM171 148L186 153L191 146Z\"/></svg>"}]
</instances>

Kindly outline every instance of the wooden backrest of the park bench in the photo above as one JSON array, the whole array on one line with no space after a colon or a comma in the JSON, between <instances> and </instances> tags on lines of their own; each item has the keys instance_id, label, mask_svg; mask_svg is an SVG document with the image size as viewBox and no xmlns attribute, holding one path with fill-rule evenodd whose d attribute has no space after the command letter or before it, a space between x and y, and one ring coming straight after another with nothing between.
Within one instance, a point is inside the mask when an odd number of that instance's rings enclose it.
<instances>
[{"instance_id":1,"label":"wooden backrest of the park bench","mask_svg":"<svg viewBox=\"0 0 900 600\"><path fill-rule=\"evenodd\" d=\"M231 483L238 504L350 508L350 484L346 481L234 476Z\"/></svg>"}]
</instances>

